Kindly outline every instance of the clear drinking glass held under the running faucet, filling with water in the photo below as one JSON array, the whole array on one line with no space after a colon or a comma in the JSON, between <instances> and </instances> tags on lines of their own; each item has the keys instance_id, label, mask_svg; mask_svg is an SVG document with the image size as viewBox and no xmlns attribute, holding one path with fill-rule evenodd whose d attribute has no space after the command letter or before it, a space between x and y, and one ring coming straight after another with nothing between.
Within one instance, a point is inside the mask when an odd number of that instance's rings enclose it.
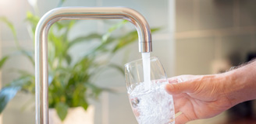
<instances>
[{"instance_id":1,"label":"clear drinking glass held under the running faucet, filling with water","mask_svg":"<svg viewBox=\"0 0 256 124\"><path fill-rule=\"evenodd\" d=\"M157 57L149 60L149 81L144 79L142 59L125 64L126 88L133 115L139 124L174 124L173 99L165 91L168 80L164 68Z\"/></svg>"}]
</instances>

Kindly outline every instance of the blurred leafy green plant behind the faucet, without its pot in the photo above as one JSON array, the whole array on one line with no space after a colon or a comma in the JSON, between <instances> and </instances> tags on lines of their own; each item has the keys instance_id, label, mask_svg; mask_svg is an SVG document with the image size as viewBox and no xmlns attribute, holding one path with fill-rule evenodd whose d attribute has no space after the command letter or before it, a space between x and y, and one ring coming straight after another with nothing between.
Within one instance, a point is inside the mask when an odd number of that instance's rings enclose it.
<instances>
[{"instance_id":1,"label":"blurred leafy green plant behind the faucet, without its pot","mask_svg":"<svg viewBox=\"0 0 256 124\"><path fill-rule=\"evenodd\" d=\"M64 0L60 2L60 5L62 2ZM39 19L40 17L34 13L27 12L25 20L30 24L30 33L33 35ZM12 29L17 50L34 65L34 51L20 47L12 23L5 18L2 18L2 22ZM87 110L88 98L98 98L101 91L109 91L107 88L100 88L94 84L96 74L107 67L116 68L117 71L123 73L123 67L110 63L109 60L116 52L137 40L135 30L122 36L112 36L112 33L122 28L126 22L122 21L113 25L105 34L91 33L86 36L77 36L74 39L69 38L70 29L79 21L56 22L50 29L48 33L48 104L49 108L56 109L61 120L65 119L68 108L82 106ZM152 32L156 30L158 29L152 29ZM90 43L91 40L97 42L94 47L87 50L79 59L73 59L70 50L80 43ZM0 61L0 67L8 58L5 57ZM20 70L16 72L20 74L20 77L5 85L0 91L0 112L17 91L34 94L34 74Z\"/></svg>"}]
</instances>

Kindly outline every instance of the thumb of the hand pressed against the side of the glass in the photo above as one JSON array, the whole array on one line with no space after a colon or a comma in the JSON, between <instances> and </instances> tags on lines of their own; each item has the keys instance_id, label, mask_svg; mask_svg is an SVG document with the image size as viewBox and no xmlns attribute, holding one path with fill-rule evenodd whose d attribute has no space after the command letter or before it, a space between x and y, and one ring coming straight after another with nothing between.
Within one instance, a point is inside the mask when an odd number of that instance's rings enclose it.
<instances>
[{"instance_id":1,"label":"thumb of the hand pressed against the side of the glass","mask_svg":"<svg viewBox=\"0 0 256 124\"><path fill-rule=\"evenodd\" d=\"M194 91L194 84L191 82L185 81L182 83L172 83L172 84L166 84L165 90L170 95L176 95L180 93L191 93Z\"/></svg>"}]
</instances>

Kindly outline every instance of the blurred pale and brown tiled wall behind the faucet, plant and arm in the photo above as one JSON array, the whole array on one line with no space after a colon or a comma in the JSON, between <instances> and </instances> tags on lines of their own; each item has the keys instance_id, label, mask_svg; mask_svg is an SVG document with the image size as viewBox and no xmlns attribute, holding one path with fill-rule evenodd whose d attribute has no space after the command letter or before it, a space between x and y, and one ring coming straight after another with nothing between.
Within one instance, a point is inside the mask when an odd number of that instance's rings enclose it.
<instances>
[{"instance_id":1,"label":"blurred pale and brown tiled wall behind the faucet, plant and arm","mask_svg":"<svg viewBox=\"0 0 256 124\"><path fill-rule=\"evenodd\" d=\"M31 2L37 3L37 10L33 9ZM27 11L42 16L58 4L59 0L0 0L0 16L12 22L20 45L27 50L34 50L33 36L27 31L27 23L24 21ZM255 5L254 0L66 0L62 6L126 6L136 9L148 20L151 28L160 28L152 36L151 56L158 57L168 77L172 77L180 74L217 74L254 58ZM105 33L116 22L83 20L73 27L69 36ZM133 29L131 24L123 27L126 32ZM113 35L121 33L116 31ZM15 46L9 26L0 23L1 57L15 51ZM85 44L77 48L85 50L87 46ZM116 53L111 61L123 66L126 62L139 59L137 48L137 42L134 42ZM80 52L79 49L71 51L76 58ZM126 60L123 60L124 54ZM2 86L19 77L12 68L34 72L27 58L12 57L2 67ZM116 93L103 92L98 100L90 101L95 106L95 124L137 123L126 95L123 74L114 70L105 71L98 77L96 84L115 89ZM34 95L19 92L3 111L2 123L34 123L33 98ZM253 101L242 103L212 119L190 123L256 123L255 105Z\"/></svg>"}]
</instances>

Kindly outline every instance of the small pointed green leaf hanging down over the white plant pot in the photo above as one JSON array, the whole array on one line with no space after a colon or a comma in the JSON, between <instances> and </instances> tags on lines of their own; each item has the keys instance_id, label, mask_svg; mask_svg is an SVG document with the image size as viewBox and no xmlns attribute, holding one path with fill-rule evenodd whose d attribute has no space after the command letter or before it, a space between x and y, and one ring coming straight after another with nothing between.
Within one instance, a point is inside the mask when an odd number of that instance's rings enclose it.
<instances>
[{"instance_id":1,"label":"small pointed green leaf hanging down over the white plant pot","mask_svg":"<svg viewBox=\"0 0 256 124\"><path fill-rule=\"evenodd\" d=\"M59 119L61 119L62 121L66 118L66 115L68 114L68 108L69 108L69 106L63 102L59 102L55 106L57 114L59 115Z\"/></svg>"}]
</instances>

